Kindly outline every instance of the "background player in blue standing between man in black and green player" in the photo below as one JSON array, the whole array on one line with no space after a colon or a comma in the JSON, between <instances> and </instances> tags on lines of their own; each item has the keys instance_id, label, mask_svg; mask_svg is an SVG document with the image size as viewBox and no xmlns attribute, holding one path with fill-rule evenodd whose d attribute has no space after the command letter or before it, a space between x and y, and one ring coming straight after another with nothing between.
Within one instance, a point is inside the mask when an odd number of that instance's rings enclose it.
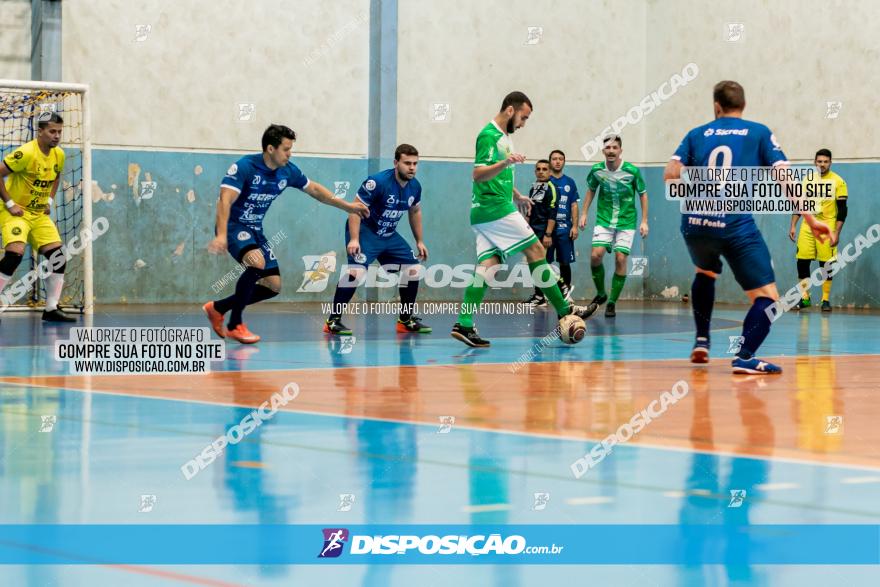
<instances>
[{"instance_id":1,"label":"background player in blue standing between man in black and green player","mask_svg":"<svg viewBox=\"0 0 880 587\"><path fill-rule=\"evenodd\" d=\"M577 260L574 249L574 241L578 237L578 226L575 219L578 217L578 200L580 195L577 191L577 182L562 173L565 169L565 153L559 149L550 151L550 183L556 188L557 210L556 228L553 231L553 239L547 248L547 262L554 260L559 263L559 275L564 287L562 294L571 301L574 292L574 284L571 282L571 264Z\"/></svg>"}]
</instances>

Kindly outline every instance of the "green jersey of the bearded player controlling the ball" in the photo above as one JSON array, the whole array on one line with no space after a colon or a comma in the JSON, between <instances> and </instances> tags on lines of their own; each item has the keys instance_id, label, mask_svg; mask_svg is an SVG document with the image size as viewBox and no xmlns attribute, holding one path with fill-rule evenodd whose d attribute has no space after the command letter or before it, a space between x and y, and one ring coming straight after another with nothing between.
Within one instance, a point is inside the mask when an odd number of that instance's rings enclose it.
<instances>
[{"instance_id":1,"label":"green jersey of the bearded player controlling the ball","mask_svg":"<svg viewBox=\"0 0 880 587\"><path fill-rule=\"evenodd\" d=\"M510 136L493 120L477 135L477 155L474 167L494 165L513 153ZM504 218L516 212L513 205L513 165L489 181L474 182L471 199L471 224L482 224Z\"/></svg>"}]
</instances>

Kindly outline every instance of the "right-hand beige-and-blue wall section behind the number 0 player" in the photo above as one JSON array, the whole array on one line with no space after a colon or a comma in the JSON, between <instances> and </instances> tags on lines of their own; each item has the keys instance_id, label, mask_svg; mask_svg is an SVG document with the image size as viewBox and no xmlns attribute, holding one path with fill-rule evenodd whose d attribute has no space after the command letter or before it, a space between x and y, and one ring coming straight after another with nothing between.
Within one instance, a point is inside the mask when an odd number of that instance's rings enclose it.
<instances>
[{"instance_id":1,"label":"right-hand beige-and-blue wall section behind the number 0 player","mask_svg":"<svg viewBox=\"0 0 880 587\"><path fill-rule=\"evenodd\" d=\"M880 133L866 126L876 116L873 88L880 83L880 40L872 25L880 6L747 0L722 7L673 0L649 2L647 16L646 91L682 64L694 62L700 73L642 121L649 137L644 162L664 165L687 130L711 120L712 85L735 79L746 90L746 118L767 124L789 159L811 162L822 147L834 153L834 170L850 193L841 245L880 222L875 197ZM677 297L674 288L689 290L692 272L677 230L680 217L675 206L662 200L662 168L650 168L648 180L654 205L645 293ZM785 291L797 281L790 217L757 218L773 254L779 289ZM880 306L874 285L878 275L880 251L875 247L835 279L835 302ZM745 300L729 276L718 286L720 299Z\"/></svg>"}]
</instances>

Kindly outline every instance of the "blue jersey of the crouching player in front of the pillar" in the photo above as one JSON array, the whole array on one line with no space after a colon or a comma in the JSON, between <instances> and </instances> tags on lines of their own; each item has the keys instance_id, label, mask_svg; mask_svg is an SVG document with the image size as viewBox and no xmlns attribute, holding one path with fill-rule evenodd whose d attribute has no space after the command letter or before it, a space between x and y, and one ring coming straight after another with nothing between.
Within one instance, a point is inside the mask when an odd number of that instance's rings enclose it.
<instances>
[{"instance_id":1,"label":"blue jersey of the crouching player in front of the pillar","mask_svg":"<svg viewBox=\"0 0 880 587\"><path fill-rule=\"evenodd\" d=\"M369 218L361 219L376 236L387 238L397 232L397 223L410 208L422 201L422 186L412 178L401 187L395 177L396 171L386 169L371 175L361 184L357 199L370 209Z\"/></svg>"}]
</instances>

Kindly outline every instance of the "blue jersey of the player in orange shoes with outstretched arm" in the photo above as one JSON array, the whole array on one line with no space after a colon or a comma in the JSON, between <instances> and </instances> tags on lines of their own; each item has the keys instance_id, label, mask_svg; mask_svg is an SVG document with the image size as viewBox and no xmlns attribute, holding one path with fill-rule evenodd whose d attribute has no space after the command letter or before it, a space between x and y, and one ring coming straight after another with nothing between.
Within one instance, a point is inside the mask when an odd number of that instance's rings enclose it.
<instances>
[{"instance_id":1,"label":"blue jersey of the player in orange shoes with outstretched arm","mask_svg":"<svg viewBox=\"0 0 880 587\"><path fill-rule=\"evenodd\" d=\"M245 155L233 163L220 185L238 192L232 203L229 222L261 231L263 217L275 198L288 187L305 189L309 180L290 162L284 167L269 169L263 161L263 154L258 153Z\"/></svg>"}]
</instances>

